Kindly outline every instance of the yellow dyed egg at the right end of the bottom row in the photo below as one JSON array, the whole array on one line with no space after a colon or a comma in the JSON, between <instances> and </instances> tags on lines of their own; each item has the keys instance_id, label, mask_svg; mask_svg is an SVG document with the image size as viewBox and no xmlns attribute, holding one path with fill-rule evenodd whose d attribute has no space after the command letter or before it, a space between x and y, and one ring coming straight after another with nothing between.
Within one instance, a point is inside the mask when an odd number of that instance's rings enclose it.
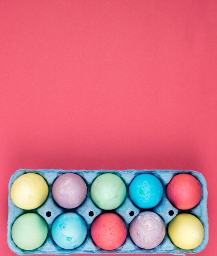
<instances>
[{"instance_id":1,"label":"yellow dyed egg at the right end of the bottom row","mask_svg":"<svg viewBox=\"0 0 217 256\"><path fill-rule=\"evenodd\" d=\"M181 213L169 223L168 235L177 247L187 250L194 249L204 239L204 227L194 215Z\"/></svg>"}]
</instances>

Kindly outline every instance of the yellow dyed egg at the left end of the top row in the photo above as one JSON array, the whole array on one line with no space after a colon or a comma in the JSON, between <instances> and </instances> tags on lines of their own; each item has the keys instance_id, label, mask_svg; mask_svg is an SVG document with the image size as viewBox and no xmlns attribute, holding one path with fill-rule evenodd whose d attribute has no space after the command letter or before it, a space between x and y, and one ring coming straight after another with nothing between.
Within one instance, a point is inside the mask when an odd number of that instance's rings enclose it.
<instances>
[{"instance_id":1,"label":"yellow dyed egg at the left end of the top row","mask_svg":"<svg viewBox=\"0 0 217 256\"><path fill-rule=\"evenodd\" d=\"M48 185L36 173L25 173L11 186L11 199L21 209L31 210L44 203L48 195Z\"/></svg>"}]
</instances>

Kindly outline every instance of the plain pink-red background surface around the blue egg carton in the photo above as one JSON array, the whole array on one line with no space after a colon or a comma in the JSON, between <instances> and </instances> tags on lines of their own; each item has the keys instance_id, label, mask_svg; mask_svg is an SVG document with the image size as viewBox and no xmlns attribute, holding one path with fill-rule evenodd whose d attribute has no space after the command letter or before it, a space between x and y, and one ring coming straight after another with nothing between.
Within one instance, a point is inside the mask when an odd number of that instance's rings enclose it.
<instances>
[{"instance_id":1,"label":"plain pink-red background surface around the blue egg carton","mask_svg":"<svg viewBox=\"0 0 217 256\"><path fill-rule=\"evenodd\" d=\"M0 255L18 168L193 169L217 255L217 2L0 2Z\"/></svg>"}]
</instances>

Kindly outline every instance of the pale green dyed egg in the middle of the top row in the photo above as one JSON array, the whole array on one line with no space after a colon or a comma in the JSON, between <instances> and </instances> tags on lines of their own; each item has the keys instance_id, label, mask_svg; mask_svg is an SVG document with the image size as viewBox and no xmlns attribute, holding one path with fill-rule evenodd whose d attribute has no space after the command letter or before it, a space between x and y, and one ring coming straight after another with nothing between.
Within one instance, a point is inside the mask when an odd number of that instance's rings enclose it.
<instances>
[{"instance_id":1,"label":"pale green dyed egg in the middle of the top row","mask_svg":"<svg viewBox=\"0 0 217 256\"><path fill-rule=\"evenodd\" d=\"M91 185L91 199L104 210L119 207L126 197L126 186L123 180L113 173L98 176Z\"/></svg>"}]
</instances>

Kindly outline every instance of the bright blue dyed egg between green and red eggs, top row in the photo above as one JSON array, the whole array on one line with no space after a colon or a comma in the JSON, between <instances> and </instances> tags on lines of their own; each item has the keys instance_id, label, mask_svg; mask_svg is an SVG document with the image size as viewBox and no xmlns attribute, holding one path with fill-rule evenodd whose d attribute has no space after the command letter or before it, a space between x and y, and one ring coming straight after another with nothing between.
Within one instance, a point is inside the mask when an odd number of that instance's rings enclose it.
<instances>
[{"instance_id":1,"label":"bright blue dyed egg between green and red eggs, top row","mask_svg":"<svg viewBox=\"0 0 217 256\"><path fill-rule=\"evenodd\" d=\"M151 174L136 176L129 186L131 201L142 209L150 209L159 204L163 196L163 186L157 177Z\"/></svg>"}]
</instances>

